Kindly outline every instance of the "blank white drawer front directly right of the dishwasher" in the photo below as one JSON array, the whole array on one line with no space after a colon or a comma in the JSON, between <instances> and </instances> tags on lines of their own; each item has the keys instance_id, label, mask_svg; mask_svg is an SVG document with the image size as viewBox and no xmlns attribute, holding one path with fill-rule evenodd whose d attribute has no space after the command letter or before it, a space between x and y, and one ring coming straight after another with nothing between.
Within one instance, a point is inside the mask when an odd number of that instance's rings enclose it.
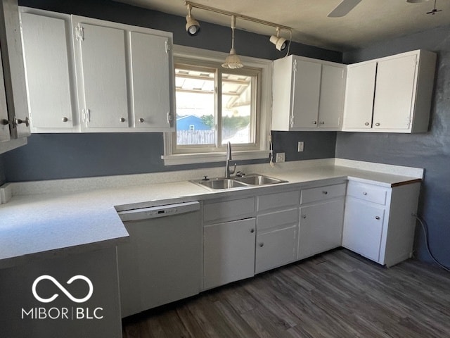
<instances>
[{"instance_id":1,"label":"blank white drawer front directly right of the dishwasher","mask_svg":"<svg viewBox=\"0 0 450 338\"><path fill-rule=\"evenodd\" d=\"M239 220L255 215L255 198L233 199L208 203L203 206L203 220L206 223Z\"/></svg>"}]
</instances>

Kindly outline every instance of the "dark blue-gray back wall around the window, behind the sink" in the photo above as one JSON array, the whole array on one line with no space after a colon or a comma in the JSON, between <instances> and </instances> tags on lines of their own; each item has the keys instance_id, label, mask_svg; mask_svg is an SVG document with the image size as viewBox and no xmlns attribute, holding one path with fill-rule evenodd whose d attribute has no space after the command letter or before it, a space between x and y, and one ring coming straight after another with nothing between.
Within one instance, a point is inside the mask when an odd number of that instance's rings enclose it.
<instances>
[{"instance_id":1,"label":"dark blue-gray back wall around the window, behind the sink","mask_svg":"<svg viewBox=\"0 0 450 338\"><path fill-rule=\"evenodd\" d=\"M177 0L178 1L178 0ZM201 23L198 37L188 37L183 17L168 15L113 1L22 0L21 6L72 13L103 20L140 25L174 33L174 43L202 49L230 49L229 27ZM181 5L180 5L181 6ZM240 55L274 60L284 53L269 43L269 37L236 30L236 50ZM342 54L304 44L293 43L292 54L342 61ZM335 156L335 132L274 132L274 149L285 151L286 160ZM305 151L297 153L297 141L305 142ZM91 177L132 173L153 173L210 165L176 165L165 167L162 133L143 134L32 134L28 145L0 155L0 183L49 180L68 177ZM251 161L264 163L268 160ZM243 162L245 163L245 162ZM213 165L223 165L217 163Z\"/></svg>"}]
</instances>

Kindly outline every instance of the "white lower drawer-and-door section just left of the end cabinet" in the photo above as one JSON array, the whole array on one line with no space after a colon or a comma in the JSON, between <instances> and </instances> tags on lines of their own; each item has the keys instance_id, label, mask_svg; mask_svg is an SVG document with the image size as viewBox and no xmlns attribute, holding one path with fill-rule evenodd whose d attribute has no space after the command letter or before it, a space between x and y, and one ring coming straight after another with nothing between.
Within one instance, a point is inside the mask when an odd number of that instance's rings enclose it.
<instances>
[{"instance_id":1,"label":"white lower drawer-and-door section just left of the end cabinet","mask_svg":"<svg viewBox=\"0 0 450 338\"><path fill-rule=\"evenodd\" d=\"M341 245L344 203L345 183L302 189L298 259Z\"/></svg>"}]
</instances>

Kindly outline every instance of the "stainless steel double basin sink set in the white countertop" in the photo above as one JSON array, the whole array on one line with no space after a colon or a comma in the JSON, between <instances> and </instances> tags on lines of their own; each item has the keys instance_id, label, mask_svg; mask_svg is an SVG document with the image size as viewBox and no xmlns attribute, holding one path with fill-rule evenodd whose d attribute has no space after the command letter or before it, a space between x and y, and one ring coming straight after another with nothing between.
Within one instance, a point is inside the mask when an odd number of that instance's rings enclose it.
<instances>
[{"instance_id":1,"label":"stainless steel double basin sink set in the white countertop","mask_svg":"<svg viewBox=\"0 0 450 338\"><path fill-rule=\"evenodd\" d=\"M233 178L212 178L210 180L195 180L191 181L202 187L210 189L232 189L232 188L244 188L244 187L255 187L260 185L278 184L285 183L288 181L279 180L278 178L269 177L259 174L250 174L242 177Z\"/></svg>"}]
</instances>

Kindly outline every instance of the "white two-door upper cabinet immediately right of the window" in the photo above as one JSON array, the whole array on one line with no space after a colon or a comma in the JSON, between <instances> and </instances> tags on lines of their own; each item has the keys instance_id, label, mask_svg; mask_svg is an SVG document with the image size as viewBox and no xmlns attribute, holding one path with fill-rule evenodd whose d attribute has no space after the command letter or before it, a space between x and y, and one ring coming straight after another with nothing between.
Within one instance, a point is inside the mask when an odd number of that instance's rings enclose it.
<instances>
[{"instance_id":1,"label":"white two-door upper cabinet immediately right of the window","mask_svg":"<svg viewBox=\"0 0 450 338\"><path fill-rule=\"evenodd\" d=\"M340 130L346 66L290 55L274 61L272 130Z\"/></svg>"}]
</instances>

